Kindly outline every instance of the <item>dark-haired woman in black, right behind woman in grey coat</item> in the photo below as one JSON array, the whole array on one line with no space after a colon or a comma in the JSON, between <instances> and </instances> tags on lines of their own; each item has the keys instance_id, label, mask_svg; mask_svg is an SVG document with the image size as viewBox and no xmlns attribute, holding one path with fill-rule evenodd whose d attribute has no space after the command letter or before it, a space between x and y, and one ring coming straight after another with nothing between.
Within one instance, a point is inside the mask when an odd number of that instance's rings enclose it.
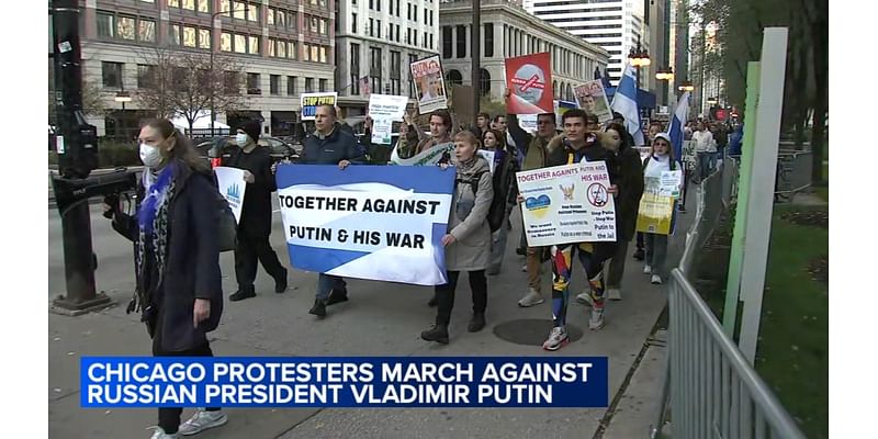
<instances>
[{"instance_id":1,"label":"dark-haired woman in black, right behind woman in grey coat","mask_svg":"<svg viewBox=\"0 0 878 439\"><path fill-rule=\"evenodd\" d=\"M517 171L516 162L513 160L513 153L506 146L506 138L503 133L496 130L488 130L482 137L482 145L486 150L494 151L494 187L503 188L500 193L494 193L494 196L503 196L506 199L505 218L503 226L495 230L491 236L491 259L487 269L487 275L499 274L503 268L503 255L506 252L506 237L511 229L509 225L509 213L516 202L517 192L515 191L515 172Z\"/></svg>"}]
</instances>

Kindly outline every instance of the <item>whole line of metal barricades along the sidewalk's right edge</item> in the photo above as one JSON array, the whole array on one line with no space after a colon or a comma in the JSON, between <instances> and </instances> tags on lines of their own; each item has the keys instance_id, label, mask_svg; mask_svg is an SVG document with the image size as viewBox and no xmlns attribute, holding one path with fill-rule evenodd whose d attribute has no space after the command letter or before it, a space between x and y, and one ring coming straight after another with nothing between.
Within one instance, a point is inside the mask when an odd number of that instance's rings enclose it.
<instances>
[{"instance_id":1,"label":"whole line of metal barricades along the sidewalk's right edge","mask_svg":"<svg viewBox=\"0 0 878 439\"><path fill-rule=\"evenodd\" d=\"M695 221L668 282L669 352L651 438L663 434L668 412L674 439L804 438L690 282L696 254L734 201L738 161L727 158L696 191Z\"/></svg>"}]
</instances>

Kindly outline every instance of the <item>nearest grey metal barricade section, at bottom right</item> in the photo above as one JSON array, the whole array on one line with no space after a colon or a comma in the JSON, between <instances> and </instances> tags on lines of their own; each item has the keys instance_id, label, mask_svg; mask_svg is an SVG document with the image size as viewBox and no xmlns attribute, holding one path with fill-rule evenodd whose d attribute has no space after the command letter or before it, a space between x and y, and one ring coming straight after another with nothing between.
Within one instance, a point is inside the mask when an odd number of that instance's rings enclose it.
<instances>
[{"instance_id":1,"label":"nearest grey metal barricade section, at bottom right","mask_svg":"<svg viewBox=\"0 0 878 439\"><path fill-rule=\"evenodd\" d=\"M674 439L804 438L679 269L668 306Z\"/></svg>"}]
</instances>

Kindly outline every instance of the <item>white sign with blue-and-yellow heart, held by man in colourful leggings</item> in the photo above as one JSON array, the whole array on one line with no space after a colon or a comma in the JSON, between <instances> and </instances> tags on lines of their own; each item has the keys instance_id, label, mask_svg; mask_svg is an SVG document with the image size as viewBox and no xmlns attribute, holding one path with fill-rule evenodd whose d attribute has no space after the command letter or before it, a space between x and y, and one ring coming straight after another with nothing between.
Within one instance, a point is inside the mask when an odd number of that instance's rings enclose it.
<instances>
[{"instance_id":1,"label":"white sign with blue-and-yellow heart, held by man in colourful leggings","mask_svg":"<svg viewBox=\"0 0 878 439\"><path fill-rule=\"evenodd\" d=\"M590 161L516 172L528 246L616 240L607 164Z\"/></svg>"}]
</instances>

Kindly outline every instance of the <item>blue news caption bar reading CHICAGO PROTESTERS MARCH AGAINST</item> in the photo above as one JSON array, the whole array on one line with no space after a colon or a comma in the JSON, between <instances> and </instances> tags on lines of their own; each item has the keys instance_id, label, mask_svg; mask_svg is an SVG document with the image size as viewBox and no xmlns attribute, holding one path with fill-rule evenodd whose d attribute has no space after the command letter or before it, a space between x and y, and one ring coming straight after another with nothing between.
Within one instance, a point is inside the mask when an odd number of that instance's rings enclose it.
<instances>
[{"instance_id":1,"label":"blue news caption bar reading CHICAGO PROTESTERS MARCH AGAINST","mask_svg":"<svg viewBox=\"0 0 878 439\"><path fill-rule=\"evenodd\" d=\"M606 407L606 357L82 357L82 407Z\"/></svg>"}]
</instances>

